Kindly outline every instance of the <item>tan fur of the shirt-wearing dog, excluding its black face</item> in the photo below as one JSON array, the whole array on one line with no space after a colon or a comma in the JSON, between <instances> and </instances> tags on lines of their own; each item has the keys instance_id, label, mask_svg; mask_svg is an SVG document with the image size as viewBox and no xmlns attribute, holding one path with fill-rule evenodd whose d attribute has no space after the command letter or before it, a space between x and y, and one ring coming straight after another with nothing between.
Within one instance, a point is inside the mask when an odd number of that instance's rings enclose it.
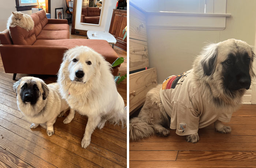
<instances>
[{"instance_id":1,"label":"tan fur of the shirt-wearing dog, excluding its black face","mask_svg":"<svg viewBox=\"0 0 256 168\"><path fill-rule=\"evenodd\" d=\"M253 61L255 54L252 51L252 47L246 42L229 39L217 44L210 44L203 48L201 54L195 59L193 64L193 85L202 91L203 100L208 101L212 109L233 112L240 107L241 98L245 93L245 89L240 89L233 93L225 90L222 82L222 64L225 61L230 52L236 53L237 51L248 52L249 57ZM209 59L216 55L215 69L212 75L204 75L202 62L207 62ZM249 73L252 77L255 74L252 70L252 61L250 62ZM151 89L146 96L146 102L142 107L138 117L132 118L129 123L130 140L139 140L143 137L148 137L154 132L161 136L169 134L169 130L163 126L170 126L170 118L165 112L161 99L159 96L159 90L162 84ZM215 99L218 98L219 104L217 105ZM221 133L230 133L231 128L225 126L221 121L215 122L215 129ZM154 132L153 132L154 129ZM187 135L188 142L197 142L199 140L198 133Z\"/></svg>"}]
</instances>

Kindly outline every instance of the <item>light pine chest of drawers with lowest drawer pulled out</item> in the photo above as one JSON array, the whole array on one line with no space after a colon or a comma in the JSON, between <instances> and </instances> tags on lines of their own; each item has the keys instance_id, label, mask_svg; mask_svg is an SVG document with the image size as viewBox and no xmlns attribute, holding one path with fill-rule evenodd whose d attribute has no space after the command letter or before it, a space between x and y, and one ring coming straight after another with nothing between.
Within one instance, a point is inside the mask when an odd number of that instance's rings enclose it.
<instances>
[{"instance_id":1,"label":"light pine chest of drawers with lowest drawer pulled out","mask_svg":"<svg viewBox=\"0 0 256 168\"><path fill-rule=\"evenodd\" d=\"M146 69L149 66L146 15L131 2L129 10L129 71ZM156 68L129 75L130 115L144 104L147 92L157 84Z\"/></svg>"}]
</instances>

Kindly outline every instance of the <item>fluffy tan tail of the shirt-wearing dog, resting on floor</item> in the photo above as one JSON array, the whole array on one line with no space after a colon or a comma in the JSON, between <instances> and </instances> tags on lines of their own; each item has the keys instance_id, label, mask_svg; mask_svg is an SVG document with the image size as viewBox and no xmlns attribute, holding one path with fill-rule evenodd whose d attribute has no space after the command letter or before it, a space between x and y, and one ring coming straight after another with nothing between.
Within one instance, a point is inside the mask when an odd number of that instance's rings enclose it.
<instances>
[{"instance_id":1,"label":"fluffy tan tail of the shirt-wearing dog, resting on floor","mask_svg":"<svg viewBox=\"0 0 256 168\"><path fill-rule=\"evenodd\" d=\"M130 140L136 141L154 134L154 129L142 118L135 117L129 123Z\"/></svg>"}]
</instances>

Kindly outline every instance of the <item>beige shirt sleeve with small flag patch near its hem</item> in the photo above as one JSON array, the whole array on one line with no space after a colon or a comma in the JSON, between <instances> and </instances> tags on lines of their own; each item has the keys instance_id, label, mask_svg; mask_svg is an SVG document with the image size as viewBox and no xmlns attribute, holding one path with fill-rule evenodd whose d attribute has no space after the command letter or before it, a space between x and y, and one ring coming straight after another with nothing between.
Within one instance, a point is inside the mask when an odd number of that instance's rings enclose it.
<instances>
[{"instance_id":1,"label":"beige shirt sleeve with small flag patch near its hem","mask_svg":"<svg viewBox=\"0 0 256 168\"><path fill-rule=\"evenodd\" d=\"M195 134L198 131L200 119L199 113L195 111L191 102L186 104L188 104L188 106L180 102L175 102L175 110L177 114L176 134L178 135L190 135ZM171 129L173 124L171 118Z\"/></svg>"}]
</instances>

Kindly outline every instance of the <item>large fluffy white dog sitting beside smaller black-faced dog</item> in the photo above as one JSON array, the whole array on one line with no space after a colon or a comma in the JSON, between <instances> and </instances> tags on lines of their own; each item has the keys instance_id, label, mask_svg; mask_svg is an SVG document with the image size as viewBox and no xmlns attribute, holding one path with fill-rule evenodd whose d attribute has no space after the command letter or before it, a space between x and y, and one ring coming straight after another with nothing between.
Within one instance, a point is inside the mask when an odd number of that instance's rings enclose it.
<instances>
[{"instance_id":1,"label":"large fluffy white dog sitting beside smaller black-faced dog","mask_svg":"<svg viewBox=\"0 0 256 168\"><path fill-rule=\"evenodd\" d=\"M88 117L83 148L90 144L96 126L102 129L107 120L126 123L124 100L117 92L111 65L93 49L86 46L69 49L60 66L58 83L69 106Z\"/></svg>"}]
</instances>

